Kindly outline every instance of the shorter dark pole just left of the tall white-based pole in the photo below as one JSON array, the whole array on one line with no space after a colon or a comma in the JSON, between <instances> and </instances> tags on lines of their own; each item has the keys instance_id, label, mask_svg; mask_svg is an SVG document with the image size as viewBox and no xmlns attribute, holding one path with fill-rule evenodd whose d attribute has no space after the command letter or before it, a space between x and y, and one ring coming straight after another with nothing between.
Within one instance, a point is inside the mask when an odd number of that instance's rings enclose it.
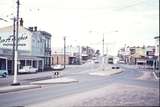
<instances>
[{"instance_id":1,"label":"shorter dark pole just left of the tall white-based pole","mask_svg":"<svg viewBox=\"0 0 160 107\"><path fill-rule=\"evenodd\" d=\"M14 55L15 55L15 22L16 22L16 18L13 18L13 53L12 53L12 73L14 73Z\"/></svg>"}]
</instances>

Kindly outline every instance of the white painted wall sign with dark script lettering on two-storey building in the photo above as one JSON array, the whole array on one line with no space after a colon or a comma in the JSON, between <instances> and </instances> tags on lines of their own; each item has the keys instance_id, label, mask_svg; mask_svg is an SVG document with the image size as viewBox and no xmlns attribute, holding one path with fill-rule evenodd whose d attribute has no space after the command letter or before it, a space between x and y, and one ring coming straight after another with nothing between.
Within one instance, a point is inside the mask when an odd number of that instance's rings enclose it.
<instances>
[{"instance_id":1,"label":"white painted wall sign with dark script lettering on two-storey building","mask_svg":"<svg viewBox=\"0 0 160 107\"><path fill-rule=\"evenodd\" d=\"M20 32L18 35L18 49L29 50L29 34ZM10 32L0 33L0 48L12 49L13 48L13 35Z\"/></svg>"}]
</instances>

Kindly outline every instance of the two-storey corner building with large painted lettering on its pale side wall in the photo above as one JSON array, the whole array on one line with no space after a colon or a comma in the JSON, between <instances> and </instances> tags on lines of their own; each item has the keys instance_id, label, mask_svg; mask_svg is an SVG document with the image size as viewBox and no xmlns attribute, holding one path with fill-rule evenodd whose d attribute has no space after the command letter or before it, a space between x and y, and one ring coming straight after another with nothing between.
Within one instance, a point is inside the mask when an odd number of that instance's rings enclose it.
<instances>
[{"instance_id":1,"label":"two-storey corner building with large painted lettering on its pale side wall","mask_svg":"<svg viewBox=\"0 0 160 107\"><path fill-rule=\"evenodd\" d=\"M37 27L19 26L18 65L33 66L39 71L51 66L51 34L38 31ZM13 73L13 26L0 28L0 56L8 59L8 71Z\"/></svg>"}]
</instances>

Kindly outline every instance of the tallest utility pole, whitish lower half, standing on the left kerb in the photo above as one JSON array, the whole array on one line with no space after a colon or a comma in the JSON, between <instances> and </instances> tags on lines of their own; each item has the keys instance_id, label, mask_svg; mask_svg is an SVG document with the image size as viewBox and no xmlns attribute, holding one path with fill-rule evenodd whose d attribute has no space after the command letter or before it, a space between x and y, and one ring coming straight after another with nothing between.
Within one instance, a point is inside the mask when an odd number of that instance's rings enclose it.
<instances>
[{"instance_id":1,"label":"tallest utility pole, whitish lower half, standing on the left kerb","mask_svg":"<svg viewBox=\"0 0 160 107\"><path fill-rule=\"evenodd\" d=\"M20 85L17 81L17 72L18 72L18 29L19 29L19 0L17 0L17 18L16 18L16 37L15 37L15 53L14 53L14 79L12 85Z\"/></svg>"}]
</instances>

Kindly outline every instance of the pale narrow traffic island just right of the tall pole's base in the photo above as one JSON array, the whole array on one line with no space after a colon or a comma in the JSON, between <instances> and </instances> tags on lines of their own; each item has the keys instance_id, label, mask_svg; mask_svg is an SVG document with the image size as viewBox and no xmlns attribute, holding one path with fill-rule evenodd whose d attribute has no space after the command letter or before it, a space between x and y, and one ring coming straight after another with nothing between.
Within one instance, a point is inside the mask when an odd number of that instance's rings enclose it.
<instances>
[{"instance_id":1,"label":"pale narrow traffic island just right of the tall pole's base","mask_svg":"<svg viewBox=\"0 0 160 107\"><path fill-rule=\"evenodd\" d=\"M60 77L60 78L53 78L48 80L31 82L31 84L47 85L47 84L65 84L65 83L72 83L72 82L78 82L78 80L67 78L67 77Z\"/></svg>"}]
</instances>

